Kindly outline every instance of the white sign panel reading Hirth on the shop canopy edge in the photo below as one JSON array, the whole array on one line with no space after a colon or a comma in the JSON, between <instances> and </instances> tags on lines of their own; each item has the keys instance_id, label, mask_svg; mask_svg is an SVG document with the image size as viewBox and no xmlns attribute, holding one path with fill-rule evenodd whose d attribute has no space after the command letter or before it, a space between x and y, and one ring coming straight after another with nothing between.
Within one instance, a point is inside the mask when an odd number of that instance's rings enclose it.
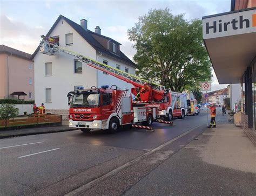
<instances>
[{"instance_id":1,"label":"white sign panel reading Hirth on the shop canopy edge","mask_svg":"<svg viewBox=\"0 0 256 196\"><path fill-rule=\"evenodd\" d=\"M203 17L203 39L256 32L256 8Z\"/></svg>"}]
</instances>

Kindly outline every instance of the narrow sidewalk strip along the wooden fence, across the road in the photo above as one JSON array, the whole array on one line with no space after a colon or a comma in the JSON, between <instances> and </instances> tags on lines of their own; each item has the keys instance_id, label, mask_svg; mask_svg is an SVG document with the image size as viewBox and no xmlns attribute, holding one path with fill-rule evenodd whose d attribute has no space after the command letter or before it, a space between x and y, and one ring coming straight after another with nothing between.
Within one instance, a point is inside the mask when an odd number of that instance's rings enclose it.
<instances>
[{"instance_id":1,"label":"narrow sidewalk strip along the wooden fence, across the road","mask_svg":"<svg viewBox=\"0 0 256 196\"><path fill-rule=\"evenodd\" d=\"M52 132L64 132L76 130L70 128L67 125L58 126L58 127L35 127L27 129L16 129L16 130L0 130L0 139L6 137L17 137L17 136L26 136L26 135L36 135L36 134L48 134Z\"/></svg>"}]
</instances>

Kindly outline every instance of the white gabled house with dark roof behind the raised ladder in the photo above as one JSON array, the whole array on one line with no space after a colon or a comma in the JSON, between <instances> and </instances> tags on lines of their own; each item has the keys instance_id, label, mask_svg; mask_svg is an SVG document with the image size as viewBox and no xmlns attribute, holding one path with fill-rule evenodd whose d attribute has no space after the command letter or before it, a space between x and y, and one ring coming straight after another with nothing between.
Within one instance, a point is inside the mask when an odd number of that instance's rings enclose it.
<instances>
[{"instance_id":1,"label":"white gabled house with dark roof behind the raised ladder","mask_svg":"<svg viewBox=\"0 0 256 196\"><path fill-rule=\"evenodd\" d=\"M80 25L60 15L46 37L59 41L59 46L66 50L85 55L91 59L135 74L135 64L120 51L120 43L103 36L99 26L95 32L87 29L87 20L80 20ZM91 88L102 85L117 85L121 89L131 89L132 85L113 76L89 67L59 52L50 56L39 52L39 47L32 54L35 62L35 102L44 103L48 112L63 114L68 118L68 99L66 95L77 86Z\"/></svg>"}]
</instances>

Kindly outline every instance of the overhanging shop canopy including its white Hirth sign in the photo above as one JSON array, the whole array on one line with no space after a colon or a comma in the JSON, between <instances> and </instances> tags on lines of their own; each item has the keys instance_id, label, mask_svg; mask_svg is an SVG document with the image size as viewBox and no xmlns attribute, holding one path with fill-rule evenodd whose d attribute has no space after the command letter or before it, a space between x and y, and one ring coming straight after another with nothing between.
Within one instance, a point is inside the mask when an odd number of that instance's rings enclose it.
<instances>
[{"instance_id":1,"label":"overhanging shop canopy including its white Hirth sign","mask_svg":"<svg viewBox=\"0 0 256 196\"><path fill-rule=\"evenodd\" d=\"M203 39L219 83L240 83L256 55L256 8L203 17Z\"/></svg>"}]
</instances>

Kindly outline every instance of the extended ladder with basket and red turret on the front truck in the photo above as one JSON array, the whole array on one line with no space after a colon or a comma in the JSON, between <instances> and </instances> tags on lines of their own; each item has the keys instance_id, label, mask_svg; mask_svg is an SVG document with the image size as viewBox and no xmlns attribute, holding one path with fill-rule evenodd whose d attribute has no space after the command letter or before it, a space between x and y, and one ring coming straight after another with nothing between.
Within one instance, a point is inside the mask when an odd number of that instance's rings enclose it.
<instances>
[{"instance_id":1,"label":"extended ladder with basket and red turret on the front truck","mask_svg":"<svg viewBox=\"0 0 256 196\"><path fill-rule=\"evenodd\" d=\"M80 62L85 62L91 67L106 72L107 74L110 74L120 80L131 83L135 87L132 89L132 93L134 95L136 95L136 93L139 93L140 89L145 88L146 82L147 89L145 90L145 93L140 94L140 102L149 103L161 101L168 93L168 90L166 90L165 87L162 85L158 85L157 83L150 82L149 80L141 79L138 76L120 71L117 68L113 68L109 65L93 60L82 54L66 50L63 47L58 46L57 43L49 41L49 39L45 37L40 43L40 52L48 55L56 55L58 52L63 52L65 54L71 55L73 58L77 59Z\"/></svg>"}]
</instances>

